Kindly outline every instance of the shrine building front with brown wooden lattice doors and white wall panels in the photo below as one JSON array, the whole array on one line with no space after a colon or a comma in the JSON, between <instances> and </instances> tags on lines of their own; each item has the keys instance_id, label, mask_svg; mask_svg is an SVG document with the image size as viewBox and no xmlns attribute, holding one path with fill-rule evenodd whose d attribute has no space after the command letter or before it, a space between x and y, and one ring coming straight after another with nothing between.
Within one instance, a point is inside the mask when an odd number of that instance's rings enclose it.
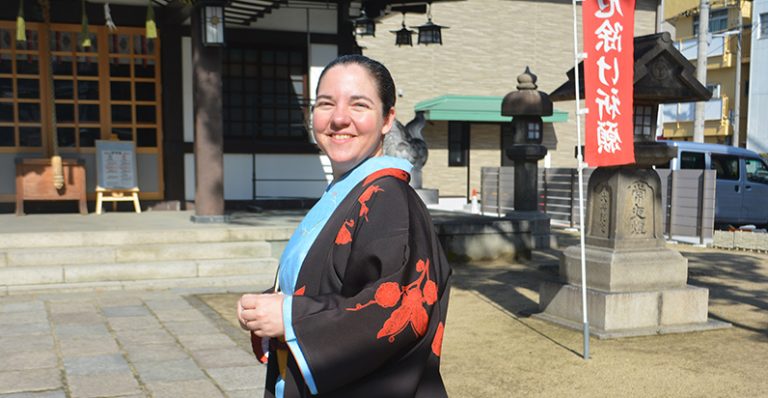
<instances>
[{"instance_id":1,"label":"shrine building front with brown wooden lattice doors and white wall panels","mask_svg":"<svg viewBox=\"0 0 768 398\"><path fill-rule=\"evenodd\" d=\"M105 3L115 31L105 26ZM192 205L200 59L194 58L190 16L199 10L153 0L159 35L150 39L148 3L53 0L47 24L38 2L25 0L26 41L17 40L19 3L0 8L4 209L15 200L17 159L54 152L85 162L86 191L94 200L97 140L135 145L142 201ZM352 50L349 13L348 2L227 2L226 45L218 50L222 128L215 133L223 146L221 184L228 202L323 192L329 165L312 142L309 109L323 66ZM84 15L89 47L83 45Z\"/></svg>"}]
</instances>

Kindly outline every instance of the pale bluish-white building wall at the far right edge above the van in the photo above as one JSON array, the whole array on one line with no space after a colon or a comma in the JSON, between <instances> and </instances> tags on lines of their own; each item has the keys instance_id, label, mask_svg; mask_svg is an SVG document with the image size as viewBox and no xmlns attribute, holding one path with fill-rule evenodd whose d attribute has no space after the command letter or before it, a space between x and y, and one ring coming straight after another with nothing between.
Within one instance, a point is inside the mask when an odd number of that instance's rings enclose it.
<instances>
[{"instance_id":1,"label":"pale bluish-white building wall at the far right edge above the van","mask_svg":"<svg viewBox=\"0 0 768 398\"><path fill-rule=\"evenodd\" d=\"M749 111L747 149L768 153L768 35L760 36L760 14L768 13L768 0L752 3L752 53L749 57Z\"/></svg>"}]
</instances>

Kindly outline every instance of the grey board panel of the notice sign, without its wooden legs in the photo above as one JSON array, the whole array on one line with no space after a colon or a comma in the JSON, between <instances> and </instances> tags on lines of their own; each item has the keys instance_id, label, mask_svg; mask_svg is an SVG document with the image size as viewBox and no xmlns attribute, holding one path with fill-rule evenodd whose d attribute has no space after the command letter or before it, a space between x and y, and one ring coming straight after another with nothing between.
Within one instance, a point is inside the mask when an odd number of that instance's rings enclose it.
<instances>
[{"instance_id":1,"label":"grey board panel of the notice sign, without its wooden legs","mask_svg":"<svg viewBox=\"0 0 768 398\"><path fill-rule=\"evenodd\" d=\"M105 190L139 187L133 142L96 140L97 183Z\"/></svg>"}]
</instances>

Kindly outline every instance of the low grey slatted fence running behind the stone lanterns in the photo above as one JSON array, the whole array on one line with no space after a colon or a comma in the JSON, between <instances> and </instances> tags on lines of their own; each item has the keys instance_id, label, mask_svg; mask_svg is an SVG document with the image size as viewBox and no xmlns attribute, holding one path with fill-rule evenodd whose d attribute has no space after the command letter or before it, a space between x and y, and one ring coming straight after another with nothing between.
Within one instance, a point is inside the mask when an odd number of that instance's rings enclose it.
<instances>
[{"instance_id":1,"label":"low grey slatted fence running behind the stone lanterns","mask_svg":"<svg viewBox=\"0 0 768 398\"><path fill-rule=\"evenodd\" d=\"M593 169L584 170L585 210L587 184ZM715 219L714 170L656 170L661 178L662 230L673 240L712 242ZM484 214L514 210L514 167L483 167L481 210ZM539 210L550 215L553 225L579 225L579 192L576 169L539 170ZM671 221L670 221L671 220Z\"/></svg>"}]
</instances>

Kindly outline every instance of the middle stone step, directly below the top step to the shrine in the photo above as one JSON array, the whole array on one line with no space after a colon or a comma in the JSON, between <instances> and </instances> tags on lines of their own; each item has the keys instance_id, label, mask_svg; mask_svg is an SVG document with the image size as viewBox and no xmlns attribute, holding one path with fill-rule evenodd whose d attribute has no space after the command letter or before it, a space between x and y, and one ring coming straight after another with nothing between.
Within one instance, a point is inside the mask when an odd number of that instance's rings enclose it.
<instances>
[{"instance_id":1,"label":"middle stone step, directly below the top step to the shrine","mask_svg":"<svg viewBox=\"0 0 768 398\"><path fill-rule=\"evenodd\" d=\"M67 264L112 264L151 261L213 260L269 257L264 241L153 243L120 246L77 246L7 249L0 252L4 267Z\"/></svg>"}]
</instances>

